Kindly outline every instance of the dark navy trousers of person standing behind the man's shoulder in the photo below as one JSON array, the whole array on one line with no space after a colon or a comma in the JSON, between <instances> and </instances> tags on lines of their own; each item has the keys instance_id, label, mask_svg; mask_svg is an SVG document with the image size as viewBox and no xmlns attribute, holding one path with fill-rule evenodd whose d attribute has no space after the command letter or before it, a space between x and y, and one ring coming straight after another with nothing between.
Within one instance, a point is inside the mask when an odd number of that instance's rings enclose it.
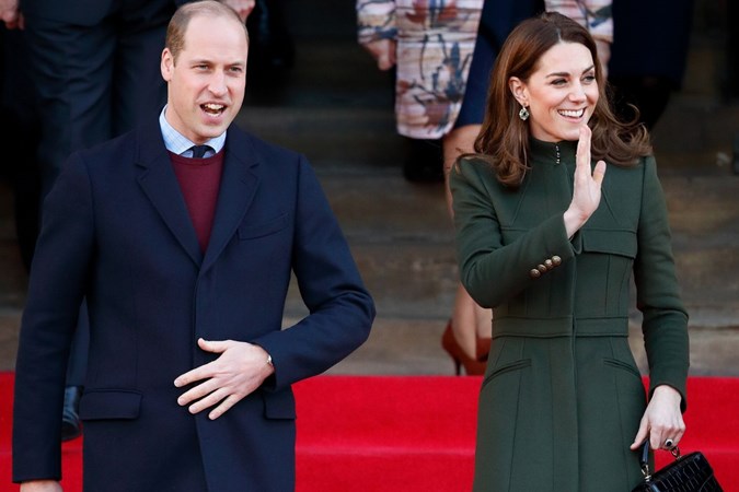
<instances>
[{"instance_id":1,"label":"dark navy trousers of person standing behind the man's shoulder","mask_svg":"<svg viewBox=\"0 0 739 492\"><path fill-rule=\"evenodd\" d=\"M46 192L71 152L131 129L163 105L159 62L174 4L149 3L131 11L119 5L93 26L26 19L44 120Z\"/></svg>"}]
</instances>

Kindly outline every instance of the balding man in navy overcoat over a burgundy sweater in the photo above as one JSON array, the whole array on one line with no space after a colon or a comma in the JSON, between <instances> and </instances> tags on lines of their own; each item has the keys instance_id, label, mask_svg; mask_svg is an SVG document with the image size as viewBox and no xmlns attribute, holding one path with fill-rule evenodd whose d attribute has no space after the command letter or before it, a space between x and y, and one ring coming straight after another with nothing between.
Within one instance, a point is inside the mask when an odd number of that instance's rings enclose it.
<instances>
[{"instance_id":1,"label":"balding man in navy overcoat over a burgundy sweater","mask_svg":"<svg viewBox=\"0 0 739 492\"><path fill-rule=\"evenodd\" d=\"M247 34L182 5L164 109L73 153L49 192L20 333L13 480L59 491L65 370L90 314L85 490L295 489L291 385L368 337L372 298L307 160L231 125ZM310 315L281 329L295 274Z\"/></svg>"}]
</instances>

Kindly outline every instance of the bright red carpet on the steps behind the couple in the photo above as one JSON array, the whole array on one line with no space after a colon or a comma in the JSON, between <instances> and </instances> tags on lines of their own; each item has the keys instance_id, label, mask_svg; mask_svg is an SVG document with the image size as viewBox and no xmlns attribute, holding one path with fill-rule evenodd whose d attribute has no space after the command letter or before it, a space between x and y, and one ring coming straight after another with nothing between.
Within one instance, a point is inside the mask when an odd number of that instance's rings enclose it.
<instances>
[{"instance_id":1,"label":"bright red carpet on the steps behind the couple","mask_svg":"<svg viewBox=\"0 0 739 492\"><path fill-rule=\"evenodd\" d=\"M320 376L296 386L298 492L466 492L480 377ZM10 482L13 377L0 373L0 490ZM739 491L739 378L693 377L683 453L701 449ZM79 492L81 440L65 444L65 492ZM658 453L658 465L669 460Z\"/></svg>"}]
</instances>

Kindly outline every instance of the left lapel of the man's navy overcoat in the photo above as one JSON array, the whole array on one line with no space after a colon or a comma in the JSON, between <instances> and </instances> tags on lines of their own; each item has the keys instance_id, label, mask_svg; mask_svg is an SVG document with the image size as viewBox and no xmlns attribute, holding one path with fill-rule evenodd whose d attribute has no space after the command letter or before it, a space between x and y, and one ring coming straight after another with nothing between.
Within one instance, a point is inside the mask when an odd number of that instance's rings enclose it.
<instances>
[{"instance_id":1,"label":"left lapel of the man's navy overcoat","mask_svg":"<svg viewBox=\"0 0 739 492\"><path fill-rule=\"evenodd\" d=\"M203 251L198 245L195 227L187 212L159 125L142 127L138 131L138 142L137 165L141 171L138 175L139 186L180 245L193 261L200 266Z\"/></svg>"}]
</instances>

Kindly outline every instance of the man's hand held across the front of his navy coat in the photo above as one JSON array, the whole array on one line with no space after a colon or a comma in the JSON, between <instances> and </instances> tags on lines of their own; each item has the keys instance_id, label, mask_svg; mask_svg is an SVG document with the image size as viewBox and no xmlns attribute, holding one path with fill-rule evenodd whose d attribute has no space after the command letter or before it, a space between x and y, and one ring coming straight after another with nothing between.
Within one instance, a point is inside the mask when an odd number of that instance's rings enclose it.
<instances>
[{"instance_id":1,"label":"man's hand held across the front of his navy coat","mask_svg":"<svg viewBox=\"0 0 739 492\"><path fill-rule=\"evenodd\" d=\"M259 345L233 340L206 341L201 338L197 343L206 352L220 353L220 356L174 380L177 388L201 382L177 398L181 406L189 405L190 413L216 407L208 418L218 419L275 372L272 364L267 363L267 352Z\"/></svg>"}]
</instances>

